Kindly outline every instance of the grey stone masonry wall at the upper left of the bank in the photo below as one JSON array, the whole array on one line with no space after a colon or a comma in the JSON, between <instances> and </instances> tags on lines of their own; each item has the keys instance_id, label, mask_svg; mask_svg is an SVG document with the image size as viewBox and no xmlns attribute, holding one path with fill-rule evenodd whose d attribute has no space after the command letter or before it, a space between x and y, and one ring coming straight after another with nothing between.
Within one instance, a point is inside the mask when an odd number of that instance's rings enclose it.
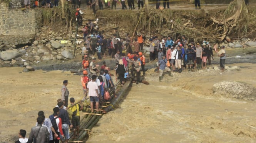
<instances>
[{"instance_id":1,"label":"grey stone masonry wall at the upper left of the bank","mask_svg":"<svg viewBox=\"0 0 256 143\"><path fill-rule=\"evenodd\" d=\"M0 35L33 35L42 26L42 12L38 9L9 9L0 4Z\"/></svg>"}]
</instances>

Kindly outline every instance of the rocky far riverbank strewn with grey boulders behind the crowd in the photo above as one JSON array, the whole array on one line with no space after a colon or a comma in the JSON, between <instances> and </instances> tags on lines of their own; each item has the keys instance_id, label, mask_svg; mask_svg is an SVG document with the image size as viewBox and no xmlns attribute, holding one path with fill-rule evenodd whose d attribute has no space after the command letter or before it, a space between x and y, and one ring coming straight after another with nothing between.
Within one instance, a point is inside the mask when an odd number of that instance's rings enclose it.
<instances>
[{"instance_id":1,"label":"rocky far riverbank strewn with grey boulders behind the crowd","mask_svg":"<svg viewBox=\"0 0 256 143\"><path fill-rule=\"evenodd\" d=\"M115 31L117 32L117 31ZM79 69L81 62L81 49L84 44L82 34L77 35L76 47L74 47L75 33L64 34L65 31L54 32L49 27L43 27L35 36L5 36L0 37L0 67L26 67L43 70L70 70ZM125 38L126 32L120 28L121 38ZM107 38L112 32L105 32ZM149 38L146 35L144 54L149 55ZM159 35L162 37L163 35ZM214 43L211 43L212 45ZM231 63L256 63L256 42L251 39L231 40L226 38L219 46L227 47L227 64ZM73 56L74 52L74 56ZM96 56L96 55L95 55ZM217 59L217 57L216 57ZM115 62L107 60L109 67L114 68ZM219 60L213 60L218 64ZM100 63L99 63L100 64ZM154 67L154 63L147 64L146 69Z\"/></svg>"}]
</instances>

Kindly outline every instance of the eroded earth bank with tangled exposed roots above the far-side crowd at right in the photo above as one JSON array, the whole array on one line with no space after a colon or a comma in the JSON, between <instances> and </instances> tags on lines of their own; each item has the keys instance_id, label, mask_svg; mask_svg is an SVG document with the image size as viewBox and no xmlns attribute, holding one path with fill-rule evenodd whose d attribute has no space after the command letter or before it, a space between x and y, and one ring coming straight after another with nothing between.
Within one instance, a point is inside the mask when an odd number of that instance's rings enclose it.
<instances>
[{"instance_id":1,"label":"eroded earth bank with tangled exposed roots above the far-side crowd at right","mask_svg":"<svg viewBox=\"0 0 256 143\"><path fill-rule=\"evenodd\" d=\"M194 41L207 39L222 41L226 36L235 38L256 35L256 10L248 10L244 0L234 0L226 9L208 10L156 10L143 8L141 11L98 12L102 23L115 24L127 32L140 31L146 35L186 35ZM125 26L124 26L125 25ZM104 30L111 26L104 26Z\"/></svg>"}]
</instances>

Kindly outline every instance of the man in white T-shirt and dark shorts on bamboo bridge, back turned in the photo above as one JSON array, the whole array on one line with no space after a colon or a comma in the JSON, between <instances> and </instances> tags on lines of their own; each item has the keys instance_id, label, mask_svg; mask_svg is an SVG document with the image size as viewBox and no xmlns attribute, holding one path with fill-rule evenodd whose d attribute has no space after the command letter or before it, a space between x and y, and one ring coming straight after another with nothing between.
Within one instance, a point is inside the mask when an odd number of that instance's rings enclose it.
<instances>
[{"instance_id":1,"label":"man in white T-shirt and dark shorts on bamboo bridge, back turned","mask_svg":"<svg viewBox=\"0 0 256 143\"><path fill-rule=\"evenodd\" d=\"M92 76L92 81L89 81L88 84L87 84L87 90L89 90L88 94L89 94L89 97L90 97L90 102L91 102L90 106L91 106L92 112L94 111L93 102L96 102L97 112L100 111L99 110L99 93L98 93L99 87L98 87L97 83L95 82L96 78L97 78L97 76L93 75ZM87 91L86 91L86 93L87 93Z\"/></svg>"}]
</instances>

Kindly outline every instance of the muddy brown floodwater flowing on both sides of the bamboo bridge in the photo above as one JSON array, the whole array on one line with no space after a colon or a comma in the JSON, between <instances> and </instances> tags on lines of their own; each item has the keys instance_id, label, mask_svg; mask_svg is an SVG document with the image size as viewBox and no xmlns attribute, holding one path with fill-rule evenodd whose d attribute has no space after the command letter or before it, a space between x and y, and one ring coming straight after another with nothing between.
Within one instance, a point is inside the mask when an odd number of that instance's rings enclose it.
<instances>
[{"instance_id":1,"label":"muddy brown floodwater flowing on both sides of the bamboo bridge","mask_svg":"<svg viewBox=\"0 0 256 143\"><path fill-rule=\"evenodd\" d=\"M222 81L256 85L255 64L235 65L241 70L173 73L174 77L166 75L162 83L156 73L146 73L150 85L134 84L122 104L92 128L87 143L254 143L256 102L212 93L212 85ZM80 76L21 71L0 70L0 142L17 140L20 129L27 130L28 137L39 110L46 117L52 114L63 80L69 80L70 97L82 98Z\"/></svg>"}]
</instances>

